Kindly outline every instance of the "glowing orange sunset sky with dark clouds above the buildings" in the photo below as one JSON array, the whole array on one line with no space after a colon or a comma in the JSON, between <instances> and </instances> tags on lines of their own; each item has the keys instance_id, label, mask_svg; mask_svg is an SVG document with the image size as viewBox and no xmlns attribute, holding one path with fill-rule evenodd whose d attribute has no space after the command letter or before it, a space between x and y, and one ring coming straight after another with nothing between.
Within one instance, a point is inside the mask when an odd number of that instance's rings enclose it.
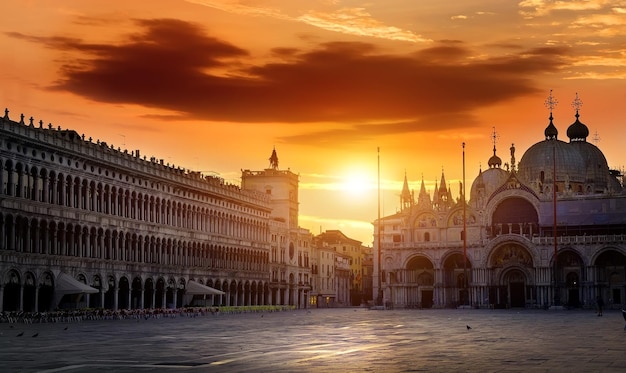
<instances>
[{"instance_id":1,"label":"glowing orange sunset sky with dark clouds above the buildings","mask_svg":"<svg viewBox=\"0 0 626 373\"><path fill-rule=\"evenodd\" d=\"M432 195L445 174L457 198L494 140L519 162L550 94L559 139L578 95L588 141L624 168L626 1L3 0L0 14L11 119L233 184L275 148L314 234L371 246L405 176Z\"/></svg>"}]
</instances>

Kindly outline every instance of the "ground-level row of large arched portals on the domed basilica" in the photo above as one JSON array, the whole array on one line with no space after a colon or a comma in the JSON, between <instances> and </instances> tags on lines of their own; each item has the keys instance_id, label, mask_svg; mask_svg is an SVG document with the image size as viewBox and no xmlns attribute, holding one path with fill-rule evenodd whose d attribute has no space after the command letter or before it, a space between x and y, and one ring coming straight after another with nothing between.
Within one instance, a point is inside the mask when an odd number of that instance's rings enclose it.
<instances>
[{"instance_id":1,"label":"ground-level row of large arched portals on the domed basilica","mask_svg":"<svg viewBox=\"0 0 626 373\"><path fill-rule=\"evenodd\" d=\"M545 307L555 303L590 306L597 296L620 304L626 296L626 255L607 247L584 259L572 247L559 250L549 267L540 267L532 251L505 242L494 248L484 268L452 252L436 265L419 254L404 268L383 273L386 297L395 304L449 307ZM390 268L388 261L387 268Z\"/></svg>"}]
</instances>

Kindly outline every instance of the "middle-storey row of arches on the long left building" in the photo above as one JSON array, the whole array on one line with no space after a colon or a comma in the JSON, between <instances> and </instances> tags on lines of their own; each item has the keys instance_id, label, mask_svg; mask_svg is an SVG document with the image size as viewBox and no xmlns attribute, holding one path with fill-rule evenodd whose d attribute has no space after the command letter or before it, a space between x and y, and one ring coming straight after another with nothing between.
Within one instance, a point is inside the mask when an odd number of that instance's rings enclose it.
<instances>
[{"instance_id":1,"label":"middle-storey row of arches on the long left building","mask_svg":"<svg viewBox=\"0 0 626 373\"><path fill-rule=\"evenodd\" d=\"M0 250L210 269L269 272L269 253L206 240L137 234L0 214Z\"/></svg>"}]
</instances>

